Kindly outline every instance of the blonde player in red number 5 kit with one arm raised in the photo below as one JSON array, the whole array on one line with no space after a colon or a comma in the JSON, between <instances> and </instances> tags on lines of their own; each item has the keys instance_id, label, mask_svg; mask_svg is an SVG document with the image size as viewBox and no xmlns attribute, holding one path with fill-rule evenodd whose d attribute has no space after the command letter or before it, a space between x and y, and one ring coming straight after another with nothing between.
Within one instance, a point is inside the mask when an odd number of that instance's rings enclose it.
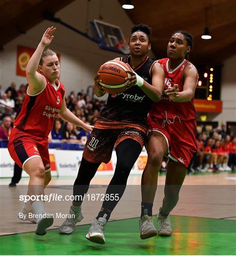
<instances>
[{"instance_id":1,"label":"blonde player in red number 5 kit with one arm raised","mask_svg":"<svg viewBox=\"0 0 236 256\"><path fill-rule=\"evenodd\" d=\"M48 28L26 66L29 83L26 99L9 137L12 159L30 176L28 195L44 195L51 180L48 135L57 115L67 122L91 131L93 127L78 119L66 107L65 89L58 80L60 64L52 50L44 50L53 39L55 27ZM39 70L38 73L36 70ZM32 197L33 198L33 197ZM40 199L40 198L39 198ZM30 218L33 215L33 218ZM43 199L28 201L18 217L36 223L35 233L45 235L53 223L52 214L45 214Z\"/></svg>"}]
</instances>

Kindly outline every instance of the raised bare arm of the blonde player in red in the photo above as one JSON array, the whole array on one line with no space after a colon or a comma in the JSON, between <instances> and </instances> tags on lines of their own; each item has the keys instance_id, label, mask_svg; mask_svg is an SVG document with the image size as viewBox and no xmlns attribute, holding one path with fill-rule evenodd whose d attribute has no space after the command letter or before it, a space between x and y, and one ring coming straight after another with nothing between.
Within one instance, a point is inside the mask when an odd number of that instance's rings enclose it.
<instances>
[{"instance_id":1,"label":"raised bare arm of the blonde player in red","mask_svg":"<svg viewBox=\"0 0 236 256\"><path fill-rule=\"evenodd\" d=\"M44 48L52 42L52 39L53 39L52 34L54 33L55 30L56 30L55 27L49 27L46 29L39 45L37 46L34 54L30 58L26 66L26 79L29 83L28 90L30 94L36 94L39 91L42 91L45 86L46 80L44 76L38 73L36 70L38 68L38 64L39 64L41 55L44 51Z\"/></svg>"}]
</instances>

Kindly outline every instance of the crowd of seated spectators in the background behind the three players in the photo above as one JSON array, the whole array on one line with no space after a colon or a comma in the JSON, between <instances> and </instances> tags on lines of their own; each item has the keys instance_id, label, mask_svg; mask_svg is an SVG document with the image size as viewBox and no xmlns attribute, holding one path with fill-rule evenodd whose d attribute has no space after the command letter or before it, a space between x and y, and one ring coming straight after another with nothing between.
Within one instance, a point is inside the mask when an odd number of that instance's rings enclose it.
<instances>
[{"instance_id":1,"label":"crowd of seated spectators in the background behind the three players","mask_svg":"<svg viewBox=\"0 0 236 256\"><path fill-rule=\"evenodd\" d=\"M6 91L0 87L0 140L8 140L17 112L21 109L26 97L27 84L21 84L16 89L12 82ZM94 125L99 112L105 107L105 101L91 99L89 95L80 91L71 91L66 97L66 104L79 119ZM90 133L64 122L59 117L55 119L49 142L70 142L84 145ZM236 137L227 134L225 125L202 132L197 136L197 154L192 158L188 170L198 171L230 171L236 167ZM163 168L166 162L163 161Z\"/></svg>"}]
</instances>

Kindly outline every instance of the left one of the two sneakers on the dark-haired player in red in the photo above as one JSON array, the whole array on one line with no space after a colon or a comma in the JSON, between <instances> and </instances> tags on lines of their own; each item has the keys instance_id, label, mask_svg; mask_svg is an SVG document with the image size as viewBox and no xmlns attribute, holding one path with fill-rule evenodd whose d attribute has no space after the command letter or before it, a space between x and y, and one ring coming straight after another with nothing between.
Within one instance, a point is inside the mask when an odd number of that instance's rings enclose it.
<instances>
[{"instance_id":1,"label":"left one of the two sneakers on the dark-haired player in red","mask_svg":"<svg viewBox=\"0 0 236 256\"><path fill-rule=\"evenodd\" d=\"M140 219L140 238L147 239L157 236L157 230L154 227L152 217L142 216Z\"/></svg>"}]
</instances>

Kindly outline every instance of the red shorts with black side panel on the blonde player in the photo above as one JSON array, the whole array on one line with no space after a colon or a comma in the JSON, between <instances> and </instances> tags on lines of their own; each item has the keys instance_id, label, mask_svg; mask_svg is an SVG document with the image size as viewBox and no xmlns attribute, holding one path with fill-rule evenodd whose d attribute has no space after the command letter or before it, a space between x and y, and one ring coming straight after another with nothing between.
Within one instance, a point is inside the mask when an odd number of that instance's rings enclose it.
<instances>
[{"instance_id":1,"label":"red shorts with black side panel on the blonde player","mask_svg":"<svg viewBox=\"0 0 236 256\"><path fill-rule=\"evenodd\" d=\"M36 137L15 127L9 137L8 151L14 162L23 169L29 159L41 157L45 172L51 171L47 138Z\"/></svg>"}]
</instances>

